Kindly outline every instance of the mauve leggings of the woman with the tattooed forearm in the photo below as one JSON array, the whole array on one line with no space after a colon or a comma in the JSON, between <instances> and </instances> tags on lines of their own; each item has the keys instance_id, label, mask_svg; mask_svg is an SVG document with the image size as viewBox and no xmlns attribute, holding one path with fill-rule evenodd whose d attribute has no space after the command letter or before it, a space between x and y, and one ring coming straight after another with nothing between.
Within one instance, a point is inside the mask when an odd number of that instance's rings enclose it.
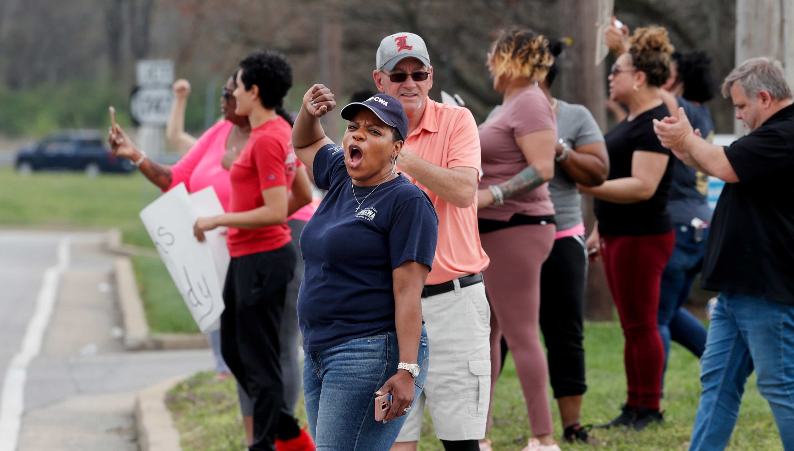
<instances>
[{"instance_id":1,"label":"mauve leggings of the woman with the tattooed forearm","mask_svg":"<svg viewBox=\"0 0 794 451\"><path fill-rule=\"evenodd\" d=\"M491 266L484 271L491 304L491 406L504 336L513 353L536 437L554 430L547 387L549 370L538 334L538 316L541 266L551 253L556 231L553 224L518 225L480 234L483 249L491 258Z\"/></svg>"}]
</instances>

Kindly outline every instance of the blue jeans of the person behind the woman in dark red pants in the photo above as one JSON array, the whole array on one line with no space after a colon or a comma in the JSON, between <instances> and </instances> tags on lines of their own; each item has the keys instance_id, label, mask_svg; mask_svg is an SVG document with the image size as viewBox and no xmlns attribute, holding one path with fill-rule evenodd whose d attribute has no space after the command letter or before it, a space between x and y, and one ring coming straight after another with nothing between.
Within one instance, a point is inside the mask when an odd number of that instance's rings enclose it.
<instances>
[{"instance_id":1,"label":"blue jeans of the person behind the woman in dark red pants","mask_svg":"<svg viewBox=\"0 0 794 451\"><path fill-rule=\"evenodd\" d=\"M683 230L686 228L686 230ZM689 226L676 224L676 247L661 275L659 312L657 322L661 342L665 346L665 369L670 354L670 340L680 343L695 354L703 355L706 347L706 328L685 308L692 291L692 283L703 267L703 254L706 253L708 229L703 231L703 239L696 242ZM664 382L664 374L662 375Z\"/></svg>"}]
</instances>

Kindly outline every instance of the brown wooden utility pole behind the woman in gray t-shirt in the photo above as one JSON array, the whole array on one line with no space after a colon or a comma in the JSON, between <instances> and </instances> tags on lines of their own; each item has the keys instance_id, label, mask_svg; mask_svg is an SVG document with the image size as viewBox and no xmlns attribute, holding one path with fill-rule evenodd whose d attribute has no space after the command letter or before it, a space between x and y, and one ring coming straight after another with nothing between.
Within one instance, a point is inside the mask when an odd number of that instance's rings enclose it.
<instances>
[{"instance_id":1,"label":"brown wooden utility pole behind the woman in gray t-shirt","mask_svg":"<svg viewBox=\"0 0 794 451\"><path fill-rule=\"evenodd\" d=\"M565 101L586 106L601 130L607 127L607 87L603 63L595 66L595 22L598 17L598 2L588 0L560 0L557 3L557 29L563 33L559 37L570 37L571 46L561 55L561 71L555 81L555 91ZM593 201L590 196L582 197L584 224L589 235L595 224ZM584 300L584 313L588 319L611 320L613 311L612 296L607 286L603 264L593 262L588 268L588 285Z\"/></svg>"}]
</instances>

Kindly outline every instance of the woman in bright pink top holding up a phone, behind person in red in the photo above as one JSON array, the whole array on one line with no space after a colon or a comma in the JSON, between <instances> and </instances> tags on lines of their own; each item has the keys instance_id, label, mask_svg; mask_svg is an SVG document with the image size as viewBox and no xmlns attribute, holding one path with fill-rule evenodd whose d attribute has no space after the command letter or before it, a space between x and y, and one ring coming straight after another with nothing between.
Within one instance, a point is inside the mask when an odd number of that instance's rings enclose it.
<instances>
[{"instance_id":1,"label":"woman in bright pink top holding up a phone, behind person in red","mask_svg":"<svg viewBox=\"0 0 794 451\"><path fill-rule=\"evenodd\" d=\"M232 96L233 90L237 87L237 71L229 77L223 86L221 96L221 113L223 120L218 121L198 138L195 146L173 166L164 166L160 163L148 159L145 151L139 150L135 144L129 140L125 133L118 128L118 136L121 143L110 142L114 154L129 159L133 162L141 174L163 191L172 189L179 183L184 183L189 193L195 193L207 186L212 186L218 194L218 200L225 211L229 211L229 197L231 195L231 182L229 180L229 167L239 156L239 152L245 147L249 140L251 127L248 117L237 116L234 113L236 101ZM291 123L292 119L283 109L277 113ZM111 130L112 132L112 130ZM112 134L112 133L111 133ZM290 192L291 197L298 197L298 204L304 204L303 208L294 212L293 216L287 218L287 224L292 229L293 239L298 242L303 225L306 224L314 213L314 206L308 204L311 201L311 187L306 168L301 166L296 170L295 182L293 182ZM295 269L295 279L287 287L287 304L285 305L284 320L282 329L279 331L281 346L281 365L284 382L284 402L292 411L301 394L302 368L299 361L299 328L298 314L296 305L298 300L298 289L303 278L303 259L298 258L298 266ZM229 368L226 366L221 356L220 333L219 331L210 332L209 338L212 344L213 354L216 361L218 375L223 373L230 375ZM223 377L223 376L222 376ZM245 432L252 440L252 402L239 389L241 411Z\"/></svg>"}]
</instances>

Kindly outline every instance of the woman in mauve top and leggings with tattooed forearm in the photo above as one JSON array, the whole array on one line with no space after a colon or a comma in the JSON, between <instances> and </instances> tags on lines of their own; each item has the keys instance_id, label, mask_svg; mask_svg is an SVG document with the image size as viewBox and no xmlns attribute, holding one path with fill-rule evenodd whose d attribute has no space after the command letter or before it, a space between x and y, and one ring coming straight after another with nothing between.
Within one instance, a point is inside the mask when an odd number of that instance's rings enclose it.
<instances>
[{"instance_id":1,"label":"woman in mauve top and leggings with tattooed forearm","mask_svg":"<svg viewBox=\"0 0 794 451\"><path fill-rule=\"evenodd\" d=\"M554 62L543 36L504 31L488 53L502 107L480 125L483 177L477 216L491 266L484 271L491 303L491 406L504 336L515 357L533 438L528 450L556 451L545 354L538 334L541 266L554 243L554 174L557 120L538 87Z\"/></svg>"}]
</instances>

